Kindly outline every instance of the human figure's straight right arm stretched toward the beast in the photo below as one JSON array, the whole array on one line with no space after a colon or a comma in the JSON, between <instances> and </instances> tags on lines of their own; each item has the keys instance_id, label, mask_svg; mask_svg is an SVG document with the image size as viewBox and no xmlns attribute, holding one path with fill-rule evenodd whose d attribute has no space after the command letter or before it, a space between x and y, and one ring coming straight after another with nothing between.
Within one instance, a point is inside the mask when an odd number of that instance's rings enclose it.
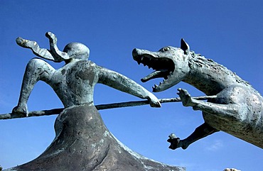
<instances>
[{"instance_id":1,"label":"human figure's straight right arm stretched toward the beast","mask_svg":"<svg viewBox=\"0 0 263 171\"><path fill-rule=\"evenodd\" d=\"M99 71L98 83L138 96L141 99L148 99L152 107L161 107L161 103L154 94L144 89L144 87L137 84L132 79L104 67L100 67Z\"/></svg>"}]
</instances>

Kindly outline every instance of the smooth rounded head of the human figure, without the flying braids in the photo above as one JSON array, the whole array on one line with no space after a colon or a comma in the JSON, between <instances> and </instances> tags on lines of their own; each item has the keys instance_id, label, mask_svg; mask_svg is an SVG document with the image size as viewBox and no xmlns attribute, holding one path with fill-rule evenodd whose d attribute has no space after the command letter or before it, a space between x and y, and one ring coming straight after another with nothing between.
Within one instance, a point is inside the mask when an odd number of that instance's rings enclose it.
<instances>
[{"instance_id":1,"label":"smooth rounded head of the human figure, without the flying braids","mask_svg":"<svg viewBox=\"0 0 263 171\"><path fill-rule=\"evenodd\" d=\"M68 53L71 59L87 60L90 56L90 49L82 43L68 43L63 52Z\"/></svg>"}]
</instances>

